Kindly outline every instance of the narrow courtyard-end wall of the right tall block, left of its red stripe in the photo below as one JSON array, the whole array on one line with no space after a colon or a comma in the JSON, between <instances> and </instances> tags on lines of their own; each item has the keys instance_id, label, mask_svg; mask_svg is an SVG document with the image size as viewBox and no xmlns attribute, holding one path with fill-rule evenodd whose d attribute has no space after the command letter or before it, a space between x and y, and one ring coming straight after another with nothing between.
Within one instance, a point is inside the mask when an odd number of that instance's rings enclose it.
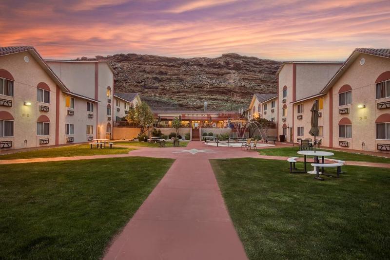
<instances>
[{"instance_id":1,"label":"narrow courtyard-end wall of the right tall block, left of its red stripe","mask_svg":"<svg viewBox=\"0 0 390 260\"><path fill-rule=\"evenodd\" d=\"M287 86L287 98L286 98L286 103L283 103L283 87ZM278 74L278 118L276 120L278 121L278 133L282 134L283 129L282 126L283 124L286 124L290 128L292 127L292 64L285 64L283 68L280 70ZM286 121L282 121L282 108L283 105L286 104L287 106L287 116L285 116ZM286 137L287 141L290 141L289 136Z\"/></svg>"}]
</instances>

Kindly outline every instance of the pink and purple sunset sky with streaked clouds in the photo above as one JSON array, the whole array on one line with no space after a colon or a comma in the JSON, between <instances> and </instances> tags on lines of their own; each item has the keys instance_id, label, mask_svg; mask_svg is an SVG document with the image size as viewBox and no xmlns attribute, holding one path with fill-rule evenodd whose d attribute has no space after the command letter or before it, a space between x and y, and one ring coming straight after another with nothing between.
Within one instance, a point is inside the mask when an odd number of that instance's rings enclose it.
<instances>
[{"instance_id":1,"label":"pink and purple sunset sky with streaked clouds","mask_svg":"<svg viewBox=\"0 0 390 260\"><path fill-rule=\"evenodd\" d=\"M390 0L1 0L0 32L0 46L45 58L344 60L390 47Z\"/></svg>"}]
</instances>

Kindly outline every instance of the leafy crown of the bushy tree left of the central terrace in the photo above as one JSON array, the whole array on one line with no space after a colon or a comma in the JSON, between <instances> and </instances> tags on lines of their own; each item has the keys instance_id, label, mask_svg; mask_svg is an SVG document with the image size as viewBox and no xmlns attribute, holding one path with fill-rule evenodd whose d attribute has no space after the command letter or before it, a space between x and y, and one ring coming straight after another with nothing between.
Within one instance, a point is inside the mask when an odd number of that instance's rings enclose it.
<instances>
[{"instance_id":1,"label":"leafy crown of the bushy tree left of the central terrace","mask_svg":"<svg viewBox=\"0 0 390 260\"><path fill-rule=\"evenodd\" d=\"M138 133L137 137L140 137L153 125L155 116L148 104L142 102L138 103L135 108L129 109L126 120L129 123L134 123L137 127L139 127L140 132Z\"/></svg>"}]
</instances>

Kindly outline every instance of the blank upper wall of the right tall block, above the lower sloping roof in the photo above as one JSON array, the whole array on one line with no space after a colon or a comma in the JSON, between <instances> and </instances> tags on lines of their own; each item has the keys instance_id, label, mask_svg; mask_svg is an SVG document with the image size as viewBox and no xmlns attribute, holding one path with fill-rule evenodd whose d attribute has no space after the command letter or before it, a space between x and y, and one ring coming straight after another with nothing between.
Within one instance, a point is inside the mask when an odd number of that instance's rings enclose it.
<instances>
[{"instance_id":1,"label":"blank upper wall of the right tall block, above the lower sloping roof","mask_svg":"<svg viewBox=\"0 0 390 260\"><path fill-rule=\"evenodd\" d=\"M296 99L318 94L341 67L339 64L296 63Z\"/></svg>"}]
</instances>

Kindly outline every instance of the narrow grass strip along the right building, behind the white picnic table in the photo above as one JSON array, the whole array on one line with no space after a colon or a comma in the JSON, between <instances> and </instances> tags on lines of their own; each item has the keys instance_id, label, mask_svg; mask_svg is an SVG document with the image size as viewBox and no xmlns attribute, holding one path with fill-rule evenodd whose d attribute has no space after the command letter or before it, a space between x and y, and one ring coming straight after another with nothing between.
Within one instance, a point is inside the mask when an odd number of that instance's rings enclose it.
<instances>
[{"instance_id":1,"label":"narrow grass strip along the right building, behind the white picnic table","mask_svg":"<svg viewBox=\"0 0 390 260\"><path fill-rule=\"evenodd\" d=\"M318 150L318 149L317 149ZM329 158L335 158L343 161L361 161L361 162L372 162L372 163L387 163L390 164L390 158L379 157L361 153L352 153L345 151L326 150L334 153L334 156ZM261 155L273 155L273 156L287 156L287 157L303 157L296 152L298 147L284 147L284 148L269 148L269 149L258 149Z\"/></svg>"}]
</instances>

